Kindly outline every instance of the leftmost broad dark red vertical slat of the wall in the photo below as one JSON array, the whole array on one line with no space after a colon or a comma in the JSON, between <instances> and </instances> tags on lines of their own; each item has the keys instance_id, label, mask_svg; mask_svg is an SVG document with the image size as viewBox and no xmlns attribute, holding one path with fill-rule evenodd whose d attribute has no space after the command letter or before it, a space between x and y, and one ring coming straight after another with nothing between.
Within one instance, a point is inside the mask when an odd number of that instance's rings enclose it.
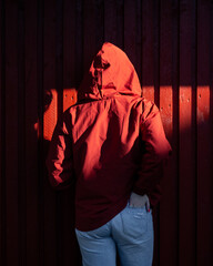
<instances>
[{"instance_id":1,"label":"leftmost broad dark red vertical slat of the wall","mask_svg":"<svg viewBox=\"0 0 213 266\"><path fill-rule=\"evenodd\" d=\"M19 264L18 234L18 1L6 3L7 263Z\"/></svg>"}]
</instances>

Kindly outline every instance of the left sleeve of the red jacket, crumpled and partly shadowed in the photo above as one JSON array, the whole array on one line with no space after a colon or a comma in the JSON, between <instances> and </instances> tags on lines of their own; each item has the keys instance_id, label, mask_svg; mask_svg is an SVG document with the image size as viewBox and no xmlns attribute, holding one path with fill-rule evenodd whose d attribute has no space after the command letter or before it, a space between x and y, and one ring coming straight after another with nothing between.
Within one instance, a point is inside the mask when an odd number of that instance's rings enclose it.
<instances>
[{"instance_id":1,"label":"left sleeve of the red jacket, crumpled and partly shadowed","mask_svg":"<svg viewBox=\"0 0 213 266\"><path fill-rule=\"evenodd\" d=\"M49 181L53 188L64 190L74 183L72 137L64 119L59 120L54 129L47 167Z\"/></svg>"}]
</instances>

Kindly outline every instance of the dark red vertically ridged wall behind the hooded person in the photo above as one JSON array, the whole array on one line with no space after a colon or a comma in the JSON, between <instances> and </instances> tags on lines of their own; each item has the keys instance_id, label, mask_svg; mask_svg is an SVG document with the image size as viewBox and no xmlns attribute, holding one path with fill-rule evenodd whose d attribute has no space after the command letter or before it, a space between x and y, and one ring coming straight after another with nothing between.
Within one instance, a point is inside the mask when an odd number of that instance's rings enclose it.
<instances>
[{"instance_id":1,"label":"dark red vertically ridged wall behind the hooded person","mask_svg":"<svg viewBox=\"0 0 213 266\"><path fill-rule=\"evenodd\" d=\"M103 41L128 53L173 146L153 265L212 265L213 2L1 0L0 9L0 265L80 265L73 190L51 190L44 160L52 123Z\"/></svg>"}]
</instances>

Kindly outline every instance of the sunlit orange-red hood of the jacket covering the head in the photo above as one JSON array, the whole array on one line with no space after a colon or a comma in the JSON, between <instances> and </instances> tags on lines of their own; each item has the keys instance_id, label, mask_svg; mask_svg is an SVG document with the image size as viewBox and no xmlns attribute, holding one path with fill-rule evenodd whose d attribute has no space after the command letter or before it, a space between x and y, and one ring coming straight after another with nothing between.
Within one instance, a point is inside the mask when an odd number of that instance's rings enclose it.
<instances>
[{"instance_id":1,"label":"sunlit orange-red hood of the jacket covering the head","mask_svg":"<svg viewBox=\"0 0 213 266\"><path fill-rule=\"evenodd\" d=\"M103 43L79 88L78 100L101 100L115 94L141 96L141 85L128 55L112 43Z\"/></svg>"}]
</instances>

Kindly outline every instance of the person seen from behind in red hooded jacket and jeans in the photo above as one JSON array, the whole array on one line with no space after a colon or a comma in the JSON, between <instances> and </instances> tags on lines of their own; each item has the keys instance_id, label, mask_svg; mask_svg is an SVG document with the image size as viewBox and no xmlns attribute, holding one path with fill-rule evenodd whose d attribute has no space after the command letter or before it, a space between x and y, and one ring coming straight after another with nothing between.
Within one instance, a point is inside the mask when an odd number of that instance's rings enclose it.
<instances>
[{"instance_id":1,"label":"person seen from behind in red hooded jacket and jeans","mask_svg":"<svg viewBox=\"0 0 213 266\"><path fill-rule=\"evenodd\" d=\"M105 42L78 103L55 126L47 166L53 187L75 186L75 234L83 266L151 266L152 208L171 152L156 105L141 96L126 54Z\"/></svg>"}]
</instances>

